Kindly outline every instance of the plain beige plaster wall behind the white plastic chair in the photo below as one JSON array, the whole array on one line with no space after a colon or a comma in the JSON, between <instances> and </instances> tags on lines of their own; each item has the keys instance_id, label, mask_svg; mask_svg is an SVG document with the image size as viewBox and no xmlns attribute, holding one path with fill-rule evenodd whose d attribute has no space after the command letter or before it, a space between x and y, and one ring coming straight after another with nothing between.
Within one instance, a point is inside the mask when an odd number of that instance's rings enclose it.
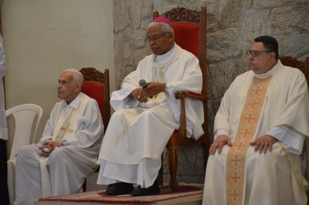
<instances>
[{"instance_id":1,"label":"plain beige plaster wall behind the white plastic chair","mask_svg":"<svg viewBox=\"0 0 309 205\"><path fill-rule=\"evenodd\" d=\"M109 69L114 90L113 15L110 0L1 0L7 59L6 109L24 103L42 107L37 139L57 98L66 68ZM8 153L14 120L8 121Z\"/></svg>"}]
</instances>

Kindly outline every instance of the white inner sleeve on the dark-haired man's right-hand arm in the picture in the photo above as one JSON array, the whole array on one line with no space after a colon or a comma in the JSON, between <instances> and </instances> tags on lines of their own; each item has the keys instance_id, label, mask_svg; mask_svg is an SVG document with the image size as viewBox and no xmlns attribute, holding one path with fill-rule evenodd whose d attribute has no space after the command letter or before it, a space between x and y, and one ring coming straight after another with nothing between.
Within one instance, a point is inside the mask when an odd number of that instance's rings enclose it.
<instances>
[{"instance_id":1,"label":"white inner sleeve on the dark-haired man's right-hand arm in the picture","mask_svg":"<svg viewBox=\"0 0 309 205\"><path fill-rule=\"evenodd\" d=\"M275 137L276 142L281 144L289 152L300 155L303 150L305 135L294 130L289 125L283 124L273 127L266 134Z\"/></svg>"}]
</instances>

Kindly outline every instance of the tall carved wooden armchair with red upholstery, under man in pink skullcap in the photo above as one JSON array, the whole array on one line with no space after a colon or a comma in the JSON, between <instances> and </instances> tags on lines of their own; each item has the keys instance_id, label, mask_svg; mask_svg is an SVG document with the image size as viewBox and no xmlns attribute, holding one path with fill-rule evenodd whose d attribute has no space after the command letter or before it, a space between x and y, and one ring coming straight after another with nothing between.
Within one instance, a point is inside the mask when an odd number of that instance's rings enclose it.
<instances>
[{"instance_id":1,"label":"tall carved wooden armchair with red upholstery, under man in pink skullcap","mask_svg":"<svg viewBox=\"0 0 309 205\"><path fill-rule=\"evenodd\" d=\"M159 16L158 11L153 12L153 19ZM200 67L203 73L202 94L195 94L189 91L176 91L175 98L180 100L180 128L175 130L166 147L168 152L168 168L170 172L170 187L176 192L178 182L176 179L178 166L178 146L189 146L201 144L204 156L204 171L208 159L208 150L210 147L208 120L207 120L207 70L206 70L206 7L202 7L200 12L186 8L174 8L163 15L173 24L175 38L174 41L181 48L193 53L200 61ZM193 98L203 101L204 124L202 125L204 134L195 141L192 137L186 137L186 112L184 99ZM159 172L159 184L163 184L163 169Z\"/></svg>"}]
</instances>

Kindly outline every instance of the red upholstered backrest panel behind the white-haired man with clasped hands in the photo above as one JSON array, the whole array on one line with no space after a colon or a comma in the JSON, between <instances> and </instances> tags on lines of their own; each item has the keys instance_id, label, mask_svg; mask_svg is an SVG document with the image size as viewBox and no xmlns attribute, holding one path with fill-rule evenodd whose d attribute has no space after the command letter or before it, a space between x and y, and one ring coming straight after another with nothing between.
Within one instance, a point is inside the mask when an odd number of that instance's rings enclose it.
<instances>
[{"instance_id":1,"label":"red upholstered backrest panel behind the white-haired man with clasped hands","mask_svg":"<svg viewBox=\"0 0 309 205\"><path fill-rule=\"evenodd\" d=\"M82 92L87 94L90 98L95 99L99 104L102 120L104 122L105 117L105 96L104 96L104 84L94 81L84 81L82 86ZM105 127L105 125L104 125Z\"/></svg>"}]
</instances>

